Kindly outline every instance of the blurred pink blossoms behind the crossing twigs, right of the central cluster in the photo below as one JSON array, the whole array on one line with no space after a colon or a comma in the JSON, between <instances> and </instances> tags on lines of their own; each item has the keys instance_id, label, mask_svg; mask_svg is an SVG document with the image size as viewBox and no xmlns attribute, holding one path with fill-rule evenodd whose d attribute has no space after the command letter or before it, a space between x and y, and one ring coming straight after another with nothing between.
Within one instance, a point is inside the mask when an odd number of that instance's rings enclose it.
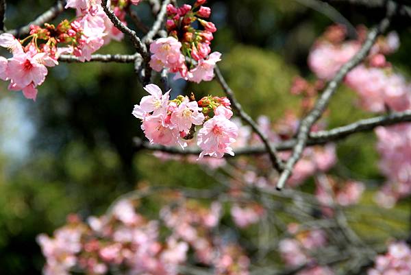
<instances>
[{"instance_id":1,"label":"blurred pink blossoms behind the crossing twigs, right of the central cluster","mask_svg":"<svg viewBox=\"0 0 411 275\"><path fill-rule=\"evenodd\" d=\"M236 141L230 145L232 150L235 151L236 149L244 147L262 145L260 137L253 134L248 125L242 125L241 121L235 118L232 119L232 122L235 123L236 128L238 129ZM297 131L299 119L293 112L287 112L283 119L279 119L279 121L276 121L275 123L271 123L270 119L264 116L259 117L257 123L262 132L268 136L271 143L279 143L292 139ZM321 130L322 128L323 125L317 124L314 126L313 130ZM191 144L188 143L188 146L191 146ZM224 167L226 164L225 160L216 158L202 158L201 160L196 161L196 158L193 158L192 156L173 156L164 152L155 152L154 155L164 161L188 161L189 163L207 165L212 169ZM290 156L290 152L280 152L280 156L282 158L287 158ZM275 183L278 180L278 174L271 169L267 156L256 156L254 160L252 166L245 161L238 161L239 169L236 171L236 174L241 176L241 178L236 180L236 182L245 182L246 184L254 185L262 189L272 189L275 187ZM287 182L288 186L297 187L310 176L328 171L334 166L336 160L334 144L330 143L325 146L307 147L303 151L302 158L297 162L292 176ZM251 169L251 167L254 167L255 170ZM259 174L264 176L259 176ZM240 211L236 211L236 213L240 213Z\"/></svg>"}]
</instances>

